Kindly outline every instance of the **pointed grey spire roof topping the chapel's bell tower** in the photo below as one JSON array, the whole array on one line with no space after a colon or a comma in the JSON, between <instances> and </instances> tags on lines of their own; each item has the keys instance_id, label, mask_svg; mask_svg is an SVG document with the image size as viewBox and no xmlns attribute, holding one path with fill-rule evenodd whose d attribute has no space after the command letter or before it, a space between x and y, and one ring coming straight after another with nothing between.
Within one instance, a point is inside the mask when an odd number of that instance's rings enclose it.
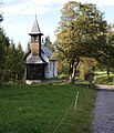
<instances>
[{"instance_id":1,"label":"pointed grey spire roof topping the chapel's bell tower","mask_svg":"<svg viewBox=\"0 0 114 133\"><path fill-rule=\"evenodd\" d=\"M33 27L32 27L32 31L29 34L30 35L32 35L32 34L43 35L43 33L41 33L41 31L40 31L40 27L39 27L39 23L38 23L37 14L35 14L35 20L34 20L34 23L33 23Z\"/></svg>"}]
</instances>

